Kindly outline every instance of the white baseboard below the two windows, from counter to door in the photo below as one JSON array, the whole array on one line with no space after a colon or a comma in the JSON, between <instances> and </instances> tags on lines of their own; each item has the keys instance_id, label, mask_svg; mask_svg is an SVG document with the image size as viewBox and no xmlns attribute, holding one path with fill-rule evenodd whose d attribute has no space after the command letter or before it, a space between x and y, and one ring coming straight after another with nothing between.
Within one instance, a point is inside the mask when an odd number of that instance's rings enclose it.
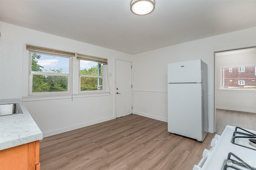
<instances>
[{"instance_id":1,"label":"white baseboard below the two windows, from counter to door","mask_svg":"<svg viewBox=\"0 0 256 170\"><path fill-rule=\"evenodd\" d=\"M52 136L52 135L55 135L55 134L60 134L60 133L68 132L70 130L75 130L75 129L78 129L78 128L88 127L90 125L95 125L97 123L102 123L102 122L105 122L105 121L110 121L112 119L116 119L116 117L114 117L114 116L106 117L104 119L98 119L96 121L82 123L82 124L74 125L74 126L71 126L71 127L65 127L65 128L60 128L60 129L57 129L57 130L43 132L43 137L48 137L48 136Z\"/></svg>"}]
</instances>

